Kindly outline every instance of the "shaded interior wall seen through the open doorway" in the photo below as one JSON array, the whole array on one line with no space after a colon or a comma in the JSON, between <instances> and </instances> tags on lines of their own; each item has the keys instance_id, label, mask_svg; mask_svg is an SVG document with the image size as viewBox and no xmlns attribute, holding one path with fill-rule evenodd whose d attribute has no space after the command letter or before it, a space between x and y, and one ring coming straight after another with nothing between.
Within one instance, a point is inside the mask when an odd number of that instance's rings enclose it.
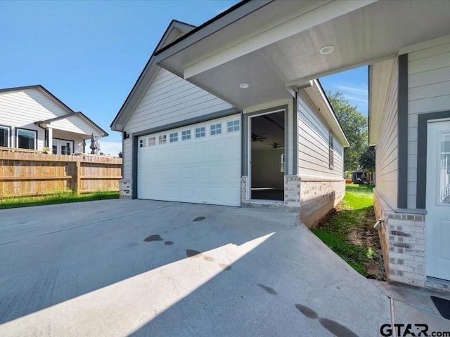
<instances>
[{"instance_id":1,"label":"shaded interior wall seen through the open doorway","mask_svg":"<svg viewBox=\"0 0 450 337\"><path fill-rule=\"evenodd\" d=\"M284 150L252 150L252 187L284 188L281 154Z\"/></svg>"}]
</instances>

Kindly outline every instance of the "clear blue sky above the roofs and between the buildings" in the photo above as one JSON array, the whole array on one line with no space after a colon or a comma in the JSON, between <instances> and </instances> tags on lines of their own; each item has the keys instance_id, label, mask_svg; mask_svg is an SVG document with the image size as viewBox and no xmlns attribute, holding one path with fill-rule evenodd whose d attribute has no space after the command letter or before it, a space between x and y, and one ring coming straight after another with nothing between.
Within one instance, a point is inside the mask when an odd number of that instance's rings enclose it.
<instances>
[{"instance_id":1,"label":"clear blue sky above the roofs and between the buildings","mask_svg":"<svg viewBox=\"0 0 450 337\"><path fill-rule=\"evenodd\" d=\"M172 19L201 25L238 1L1 1L0 88L41 84L110 136L109 126ZM321 79L367 114L367 68Z\"/></svg>"}]
</instances>

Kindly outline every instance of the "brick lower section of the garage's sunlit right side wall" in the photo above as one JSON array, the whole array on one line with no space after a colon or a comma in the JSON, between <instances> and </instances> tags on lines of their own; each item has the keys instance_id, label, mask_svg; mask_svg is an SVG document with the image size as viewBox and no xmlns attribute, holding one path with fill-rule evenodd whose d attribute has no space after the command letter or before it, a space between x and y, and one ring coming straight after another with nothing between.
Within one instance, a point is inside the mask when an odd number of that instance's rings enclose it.
<instances>
[{"instance_id":1,"label":"brick lower section of the garage's sunlit right side wall","mask_svg":"<svg viewBox=\"0 0 450 337\"><path fill-rule=\"evenodd\" d=\"M345 180L299 177L301 220L314 227L345 195Z\"/></svg>"}]
</instances>

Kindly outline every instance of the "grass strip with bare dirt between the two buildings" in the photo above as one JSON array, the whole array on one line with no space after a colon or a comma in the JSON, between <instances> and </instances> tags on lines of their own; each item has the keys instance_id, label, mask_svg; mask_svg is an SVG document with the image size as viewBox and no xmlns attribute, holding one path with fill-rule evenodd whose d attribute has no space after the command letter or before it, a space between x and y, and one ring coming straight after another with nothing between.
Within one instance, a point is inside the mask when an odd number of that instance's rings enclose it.
<instances>
[{"instance_id":1,"label":"grass strip with bare dirt between the two buildings","mask_svg":"<svg viewBox=\"0 0 450 337\"><path fill-rule=\"evenodd\" d=\"M354 270L365 277L373 277L365 265L379 257L364 240L366 231L373 230L373 222L373 186L347 185L338 210L311 231Z\"/></svg>"}]
</instances>

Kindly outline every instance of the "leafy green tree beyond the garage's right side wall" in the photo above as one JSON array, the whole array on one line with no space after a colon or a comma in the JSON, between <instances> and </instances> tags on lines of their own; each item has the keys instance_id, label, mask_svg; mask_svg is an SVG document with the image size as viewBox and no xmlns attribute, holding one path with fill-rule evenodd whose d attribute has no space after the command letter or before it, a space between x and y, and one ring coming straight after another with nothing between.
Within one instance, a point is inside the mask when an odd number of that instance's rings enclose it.
<instances>
[{"instance_id":1,"label":"leafy green tree beyond the garage's right side wall","mask_svg":"<svg viewBox=\"0 0 450 337\"><path fill-rule=\"evenodd\" d=\"M326 91L326 95L350 144L344 149L344 171L355 171L359 169L359 157L367 147L368 119L344 98L342 92Z\"/></svg>"}]
</instances>

